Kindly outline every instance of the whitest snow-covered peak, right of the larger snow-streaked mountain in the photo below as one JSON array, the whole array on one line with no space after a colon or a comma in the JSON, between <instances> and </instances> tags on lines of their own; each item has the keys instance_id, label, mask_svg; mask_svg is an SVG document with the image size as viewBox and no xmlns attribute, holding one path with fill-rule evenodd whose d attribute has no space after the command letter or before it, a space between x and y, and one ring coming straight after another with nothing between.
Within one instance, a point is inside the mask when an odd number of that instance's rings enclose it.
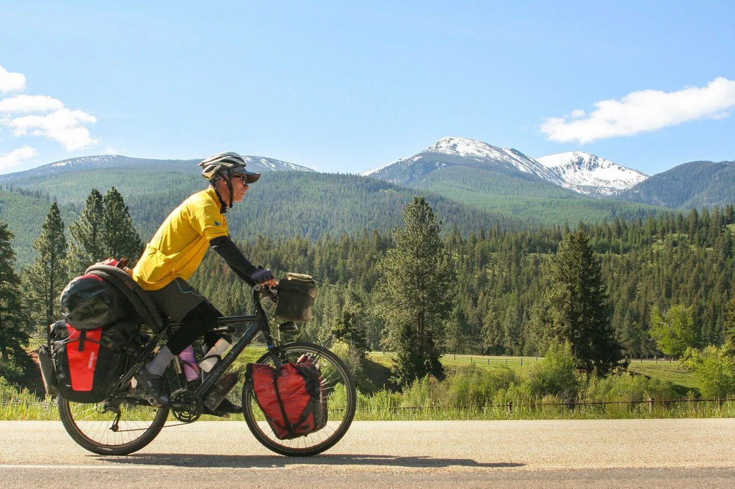
<instances>
[{"instance_id":1,"label":"whitest snow-covered peak, right of the larger snow-streaked mountain","mask_svg":"<svg viewBox=\"0 0 735 489\"><path fill-rule=\"evenodd\" d=\"M581 151L537 158L564 188L585 195L617 195L645 181L648 175Z\"/></svg>"}]
</instances>

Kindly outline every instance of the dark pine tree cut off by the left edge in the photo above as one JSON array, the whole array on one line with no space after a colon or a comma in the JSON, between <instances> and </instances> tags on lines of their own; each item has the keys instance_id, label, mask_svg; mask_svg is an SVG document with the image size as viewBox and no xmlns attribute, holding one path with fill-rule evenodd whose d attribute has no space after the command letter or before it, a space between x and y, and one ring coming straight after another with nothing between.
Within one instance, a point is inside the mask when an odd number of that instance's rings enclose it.
<instances>
[{"instance_id":1,"label":"dark pine tree cut off by the left edge","mask_svg":"<svg viewBox=\"0 0 735 489\"><path fill-rule=\"evenodd\" d=\"M4 366L11 358L25 356L28 321L21 304L21 286L15 274L15 251L10 246L12 232L0 222L0 360ZM7 377L5 368L0 374Z\"/></svg>"}]
</instances>

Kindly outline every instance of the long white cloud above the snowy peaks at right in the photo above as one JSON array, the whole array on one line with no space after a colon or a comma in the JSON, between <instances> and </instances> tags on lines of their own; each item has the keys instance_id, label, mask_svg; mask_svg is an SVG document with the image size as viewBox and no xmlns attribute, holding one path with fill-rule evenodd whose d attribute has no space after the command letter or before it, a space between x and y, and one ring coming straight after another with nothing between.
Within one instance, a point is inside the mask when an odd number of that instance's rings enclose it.
<instances>
[{"instance_id":1,"label":"long white cloud above the snowy peaks at right","mask_svg":"<svg viewBox=\"0 0 735 489\"><path fill-rule=\"evenodd\" d=\"M706 87L689 87L670 93L641 90L628 93L620 100L599 101L589 114L576 109L570 115L545 120L541 132L551 141L585 144L705 117L728 117L728 109L734 106L735 81L720 76Z\"/></svg>"}]
</instances>

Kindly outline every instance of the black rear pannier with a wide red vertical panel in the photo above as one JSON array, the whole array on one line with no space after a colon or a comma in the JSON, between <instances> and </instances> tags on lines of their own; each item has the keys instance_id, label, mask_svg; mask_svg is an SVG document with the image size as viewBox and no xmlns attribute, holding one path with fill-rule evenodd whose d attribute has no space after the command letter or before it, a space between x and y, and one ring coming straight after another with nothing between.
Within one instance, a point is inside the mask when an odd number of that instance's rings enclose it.
<instances>
[{"instance_id":1,"label":"black rear pannier with a wide red vertical panel","mask_svg":"<svg viewBox=\"0 0 735 489\"><path fill-rule=\"evenodd\" d=\"M59 395L71 402L101 402L121 374L123 348L135 322L81 330L65 320L52 326L51 346Z\"/></svg>"}]
</instances>

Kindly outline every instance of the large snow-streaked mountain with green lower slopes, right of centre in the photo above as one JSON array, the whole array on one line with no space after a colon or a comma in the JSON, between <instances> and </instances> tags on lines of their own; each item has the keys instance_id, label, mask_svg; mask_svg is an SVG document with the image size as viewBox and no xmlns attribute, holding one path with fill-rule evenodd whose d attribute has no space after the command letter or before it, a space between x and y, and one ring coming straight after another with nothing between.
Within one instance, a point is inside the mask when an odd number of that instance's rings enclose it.
<instances>
[{"instance_id":1,"label":"large snow-streaked mountain with green lower slopes, right of centre","mask_svg":"<svg viewBox=\"0 0 735 489\"><path fill-rule=\"evenodd\" d=\"M551 168L520 151L445 137L414 156L361 173L434 192L481 211L531 220L534 225L638 217L659 209L589 198L564 188Z\"/></svg>"}]
</instances>

